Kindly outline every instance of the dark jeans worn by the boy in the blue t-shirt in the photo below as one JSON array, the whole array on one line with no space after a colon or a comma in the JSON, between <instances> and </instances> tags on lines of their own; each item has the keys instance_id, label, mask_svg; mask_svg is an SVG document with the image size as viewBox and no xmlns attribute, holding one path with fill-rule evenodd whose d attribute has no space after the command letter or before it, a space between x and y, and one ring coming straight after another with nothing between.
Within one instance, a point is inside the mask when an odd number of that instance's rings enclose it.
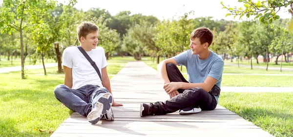
<instances>
[{"instance_id":1,"label":"dark jeans worn by the boy in the blue t-shirt","mask_svg":"<svg viewBox=\"0 0 293 137\"><path fill-rule=\"evenodd\" d=\"M171 82L188 82L175 64L168 63L166 69L168 78ZM179 95L168 99L165 102L156 102L155 106L158 107L158 111L155 115L173 113L189 106L199 105L202 110L214 110L217 106L217 100L214 96L207 93L202 88L197 87L187 90L178 89L178 92L180 93Z\"/></svg>"}]
</instances>

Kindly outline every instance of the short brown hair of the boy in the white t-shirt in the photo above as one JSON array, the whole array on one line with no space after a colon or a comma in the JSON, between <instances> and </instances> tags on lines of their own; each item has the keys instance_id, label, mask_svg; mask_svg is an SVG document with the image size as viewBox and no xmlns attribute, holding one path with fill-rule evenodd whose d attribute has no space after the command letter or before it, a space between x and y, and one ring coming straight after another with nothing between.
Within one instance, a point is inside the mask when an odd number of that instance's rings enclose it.
<instances>
[{"instance_id":1,"label":"short brown hair of the boy in the white t-shirt","mask_svg":"<svg viewBox=\"0 0 293 137\"><path fill-rule=\"evenodd\" d=\"M84 21L76 28L77 38L81 41L82 37L86 37L86 35L99 31L99 27L91 22Z\"/></svg>"}]
</instances>

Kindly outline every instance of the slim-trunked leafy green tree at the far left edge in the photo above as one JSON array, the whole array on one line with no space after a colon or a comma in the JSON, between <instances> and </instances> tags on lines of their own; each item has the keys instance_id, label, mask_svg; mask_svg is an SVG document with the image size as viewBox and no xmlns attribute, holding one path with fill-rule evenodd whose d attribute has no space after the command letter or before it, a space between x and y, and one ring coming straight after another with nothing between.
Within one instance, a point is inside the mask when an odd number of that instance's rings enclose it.
<instances>
[{"instance_id":1,"label":"slim-trunked leafy green tree at the far left edge","mask_svg":"<svg viewBox=\"0 0 293 137\"><path fill-rule=\"evenodd\" d=\"M55 5L53 0L4 0L0 7L1 33L14 29L20 33L21 78L24 77L23 32L34 24L32 20ZM41 9L41 10L40 10ZM27 23L25 22L27 21Z\"/></svg>"}]
</instances>

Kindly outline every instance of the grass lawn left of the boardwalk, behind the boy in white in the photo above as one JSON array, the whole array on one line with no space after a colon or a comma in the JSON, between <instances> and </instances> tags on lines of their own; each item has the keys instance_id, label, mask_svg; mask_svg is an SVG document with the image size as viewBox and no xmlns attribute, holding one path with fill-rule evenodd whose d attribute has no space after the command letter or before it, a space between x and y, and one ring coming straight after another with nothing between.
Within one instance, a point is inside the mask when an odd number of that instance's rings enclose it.
<instances>
[{"instance_id":1,"label":"grass lawn left of the boardwalk, behind the boy in white","mask_svg":"<svg viewBox=\"0 0 293 137\"><path fill-rule=\"evenodd\" d=\"M117 74L125 59L108 60L108 74ZM72 113L53 94L64 74L56 73L57 67L46 70L47 76L43 69L28 70L23 80L21 72L0 74L0 137L49 137Z\"/></svg>"}]
</instances>

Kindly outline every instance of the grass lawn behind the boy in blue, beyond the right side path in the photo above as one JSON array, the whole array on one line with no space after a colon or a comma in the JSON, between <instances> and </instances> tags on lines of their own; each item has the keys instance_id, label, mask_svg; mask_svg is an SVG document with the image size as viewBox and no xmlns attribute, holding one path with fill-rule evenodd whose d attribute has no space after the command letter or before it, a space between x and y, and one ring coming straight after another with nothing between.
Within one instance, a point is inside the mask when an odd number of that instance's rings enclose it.
<instances>
[{"instance_id":1,"label":"grass lawn behind the boy in blue, beyond the right side path","mask_svg":"<svg viewBox=\"0 0 293 137\"><path fill-rule=\"evenodd\" d=\"M147 65L157 70L157 63L145 58L143 60ZM181 66L178 66L179 70ZM186 67L182 67L183 76L187 79ZM250 69L245 67L224 66L221 86L269 86L269 87L293 87L293 76L260 76L245 74L293 74L293 72L280 72L276 70ZM225 73L241 75L225 75Z\"/></svg>"}]
</instances>

